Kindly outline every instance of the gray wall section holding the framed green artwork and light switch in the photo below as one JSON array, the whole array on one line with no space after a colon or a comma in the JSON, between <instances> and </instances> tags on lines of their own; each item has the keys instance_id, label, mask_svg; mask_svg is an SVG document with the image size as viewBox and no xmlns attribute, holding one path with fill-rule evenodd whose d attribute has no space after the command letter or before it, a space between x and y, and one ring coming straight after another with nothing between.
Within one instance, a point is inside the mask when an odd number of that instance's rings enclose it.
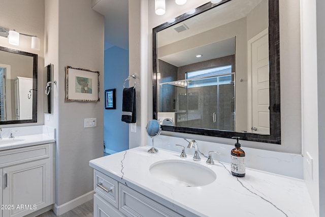
<instances>
[{"instance_id":1,"label":"gray wall section holding the framed green artwork and light switch","mask_svg":"<svg viewBox=\"0 0 325 217\"><path fill-rule=\"evenodd\" d=\"M57 128L55 204L60 206L92 191L89 160L103 156L104 17L89 0L45 0L45 11L45 61L54 65L57 81L47 123ZM100 72L100 102L65 100L67 66ZM97 127L84 128L84 118L92 117Z\"/></svg>"}]
</instances>

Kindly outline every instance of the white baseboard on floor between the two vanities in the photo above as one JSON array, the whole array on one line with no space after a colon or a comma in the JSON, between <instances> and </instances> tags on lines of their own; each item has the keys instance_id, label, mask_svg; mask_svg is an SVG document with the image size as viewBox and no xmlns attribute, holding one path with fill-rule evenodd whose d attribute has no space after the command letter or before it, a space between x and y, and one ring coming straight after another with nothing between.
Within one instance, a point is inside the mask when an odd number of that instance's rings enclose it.
<instances>
[{"instance_id":1,"label":"white baseboard on floor between the two vanities","mask_svg":"<svg viewBox=\"0 0 325 217\"><path fill-rule=\"evenodd\" d=\"M80 197L77 197L67 203L64 203L62 205L56 205L54 204L53 212L56 215L61 215L65 212L68 212L69 210L76 208L77 206L80 206L81 204L93 199L94 191L88 192L87 194L81 195Z\"/></svg>"}]
</instances>

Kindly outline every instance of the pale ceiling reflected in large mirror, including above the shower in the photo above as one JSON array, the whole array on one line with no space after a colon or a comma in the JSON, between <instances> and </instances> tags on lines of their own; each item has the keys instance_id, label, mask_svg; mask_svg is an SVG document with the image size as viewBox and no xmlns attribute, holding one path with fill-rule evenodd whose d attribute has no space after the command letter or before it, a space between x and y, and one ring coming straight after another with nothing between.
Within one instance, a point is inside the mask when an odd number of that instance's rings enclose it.
<instances>
[{"instance_id":1,"label":"pale ceiling reflected in large mirror, including above the shower","mask_svg":"<svg viewBox=\"0 0 325 217\"><path fill-rule=\"evenodd\" d=\"M174 47L182 46L182 40L184 39L199 35L210 29L246 17L247 14L250 13L251 10L262 1L264 0L232 0L226 4L166 28L157 34L158 48L169 44L173 44ZM174 29L184 24L188 27L187 30L178 33ZM173 54L164 56L158 55L158 58L176 67L180 67L235 54L235 44L235 38L231 38L192 49L186 49ZM197 58L197 54L203 54L203 56Z\"/></svg>"}]
</instances>

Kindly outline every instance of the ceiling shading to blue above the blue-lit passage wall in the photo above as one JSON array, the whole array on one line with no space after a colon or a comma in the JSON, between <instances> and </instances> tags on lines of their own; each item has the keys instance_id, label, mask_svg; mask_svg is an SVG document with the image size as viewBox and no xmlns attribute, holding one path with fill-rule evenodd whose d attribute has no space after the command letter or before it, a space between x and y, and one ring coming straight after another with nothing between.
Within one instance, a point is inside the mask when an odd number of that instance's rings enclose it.
<instances>
[{"instance_id":1,"label":"ceiling shading to blue above the blue-lit passage wall","mask_svg":"<svg viewBox=\"0 0 325 217\"><path fill-rule=\"evenodd\" d=\"M98 0L92 9L105 16L105 50L128 50L128 0Z\"/></svg>"}]
</instances>

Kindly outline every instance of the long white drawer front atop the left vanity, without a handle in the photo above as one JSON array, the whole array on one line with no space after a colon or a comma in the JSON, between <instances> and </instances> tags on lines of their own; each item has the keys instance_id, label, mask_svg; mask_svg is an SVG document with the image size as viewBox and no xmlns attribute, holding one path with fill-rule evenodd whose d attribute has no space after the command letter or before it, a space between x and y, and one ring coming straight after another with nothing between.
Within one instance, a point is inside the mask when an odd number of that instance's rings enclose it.
<instances>
[{"instance_id":1,"label":"long white drawer front atop the left vanity, without a handle","mask_svg":"<svg viewBox=\"0 0 325 217\"><path fill-rule=\"evenodd\" d=\"M0 151L0 168L49 158L50 144Z\"/></svg>"}]
</instances>

